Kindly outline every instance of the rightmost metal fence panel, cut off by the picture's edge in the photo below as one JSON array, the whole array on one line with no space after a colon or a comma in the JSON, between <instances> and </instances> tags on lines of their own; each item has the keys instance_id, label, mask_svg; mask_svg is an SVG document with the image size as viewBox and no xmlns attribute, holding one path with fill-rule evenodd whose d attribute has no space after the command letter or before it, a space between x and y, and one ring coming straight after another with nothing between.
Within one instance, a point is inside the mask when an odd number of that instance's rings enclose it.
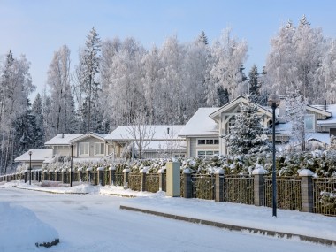
<instances>
[{"instance_id":1,"label":"rightmost metal fence panel, cut off by the picture's edge","mask_svg":"<svg viewBox=\"0 0 336 252\"><path fill-rule=\"evenodd\" d=\"M313 179L314 212L336 216L336 179Z\"/></svg>"}]
</instances>

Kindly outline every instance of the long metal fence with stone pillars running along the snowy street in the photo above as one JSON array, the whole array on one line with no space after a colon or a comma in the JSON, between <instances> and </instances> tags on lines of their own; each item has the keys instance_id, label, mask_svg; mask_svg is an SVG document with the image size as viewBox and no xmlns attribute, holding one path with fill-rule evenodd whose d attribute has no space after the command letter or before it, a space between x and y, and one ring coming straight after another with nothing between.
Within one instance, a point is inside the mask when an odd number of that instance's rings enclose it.
<instances>
[{"instance_id":1,"label":"long metal fence with stone pillars running along the snowy street","mask_svg":"<svg viewBox=\"0 0 336 252\"><path fill-rule=\"evenodd\" d=\"M165 190L165 173L127 173L127 175L126 172L110 170L76 171L72 173L72 180L88 182L92 185L124 186L135 191L153 193L160 189ZM218 201L271 207L271 177L264 175L225 176L223 174L217 176L181 174L180 195L186 198L216 199ZM27 181L29 172L0 176L0 182L17 179ZM34 171L31 179L61 181L64 184L69 184L70 174L69 172ZM221 187L219 187L220 184ZM304 206L307 205L309 207L304 209ZM279 209L311 211L327 216L336 216L336 179L312 179L307 176L277 177L277 207Z\"/></svg>"}]
</instances>

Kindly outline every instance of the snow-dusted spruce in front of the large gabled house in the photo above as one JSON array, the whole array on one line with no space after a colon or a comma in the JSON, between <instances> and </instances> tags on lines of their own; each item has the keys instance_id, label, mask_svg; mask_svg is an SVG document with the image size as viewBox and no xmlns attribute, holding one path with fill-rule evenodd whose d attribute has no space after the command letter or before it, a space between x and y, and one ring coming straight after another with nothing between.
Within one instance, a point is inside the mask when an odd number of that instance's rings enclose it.
<instances>
[{"instance_id":1,"label":"snow-dusted spruce in front of the large gabled house","mask_svg":"<svg viewBox=\"0 0 336 252\"><path fill-rule=\"evenodd\" d=\"M231 155L258 155L271 150L267 129L261 123L263 116L257 114L257 111L255 103L241 104L241 113L235 116L234 126L225 135Z\"/></svg>"}]
</instances>

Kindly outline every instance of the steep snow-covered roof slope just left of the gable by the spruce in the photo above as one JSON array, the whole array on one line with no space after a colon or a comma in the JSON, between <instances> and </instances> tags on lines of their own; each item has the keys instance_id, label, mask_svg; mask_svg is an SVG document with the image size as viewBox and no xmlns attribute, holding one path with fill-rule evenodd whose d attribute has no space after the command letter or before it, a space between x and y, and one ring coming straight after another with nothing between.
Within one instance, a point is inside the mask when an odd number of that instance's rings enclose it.
<instances>
[{"instance_id":1,"label":"steep snow-covered roof slope just left of the gable by the spruce","mask_svg":"<svg viewBox=\"0 0 336 252\"><path fill-rule=\"evenodd\" d=\"M219 108L200 108L180 130L179 136L202 136L218 134L218 124L209 117Z\"/></svg>"}]
</instances>

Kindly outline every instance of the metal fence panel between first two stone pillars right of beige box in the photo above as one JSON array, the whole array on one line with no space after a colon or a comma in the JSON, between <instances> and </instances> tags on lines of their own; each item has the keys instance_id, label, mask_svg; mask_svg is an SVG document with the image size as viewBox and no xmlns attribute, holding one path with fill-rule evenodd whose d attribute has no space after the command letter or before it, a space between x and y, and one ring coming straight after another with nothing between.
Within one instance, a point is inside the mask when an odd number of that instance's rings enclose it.
<instances>
[{"instance_id":1,"label":"metal fence panel between first two stone pillars right of beige box","mask_svg":"<svg viewBox=\"0 0 336 252\"><path fill-rule=\"evenodd\" d=\"M215 199L215 177L211 175L192 175L193 198L203 200Z\"/></svg>"}]
</instances>

